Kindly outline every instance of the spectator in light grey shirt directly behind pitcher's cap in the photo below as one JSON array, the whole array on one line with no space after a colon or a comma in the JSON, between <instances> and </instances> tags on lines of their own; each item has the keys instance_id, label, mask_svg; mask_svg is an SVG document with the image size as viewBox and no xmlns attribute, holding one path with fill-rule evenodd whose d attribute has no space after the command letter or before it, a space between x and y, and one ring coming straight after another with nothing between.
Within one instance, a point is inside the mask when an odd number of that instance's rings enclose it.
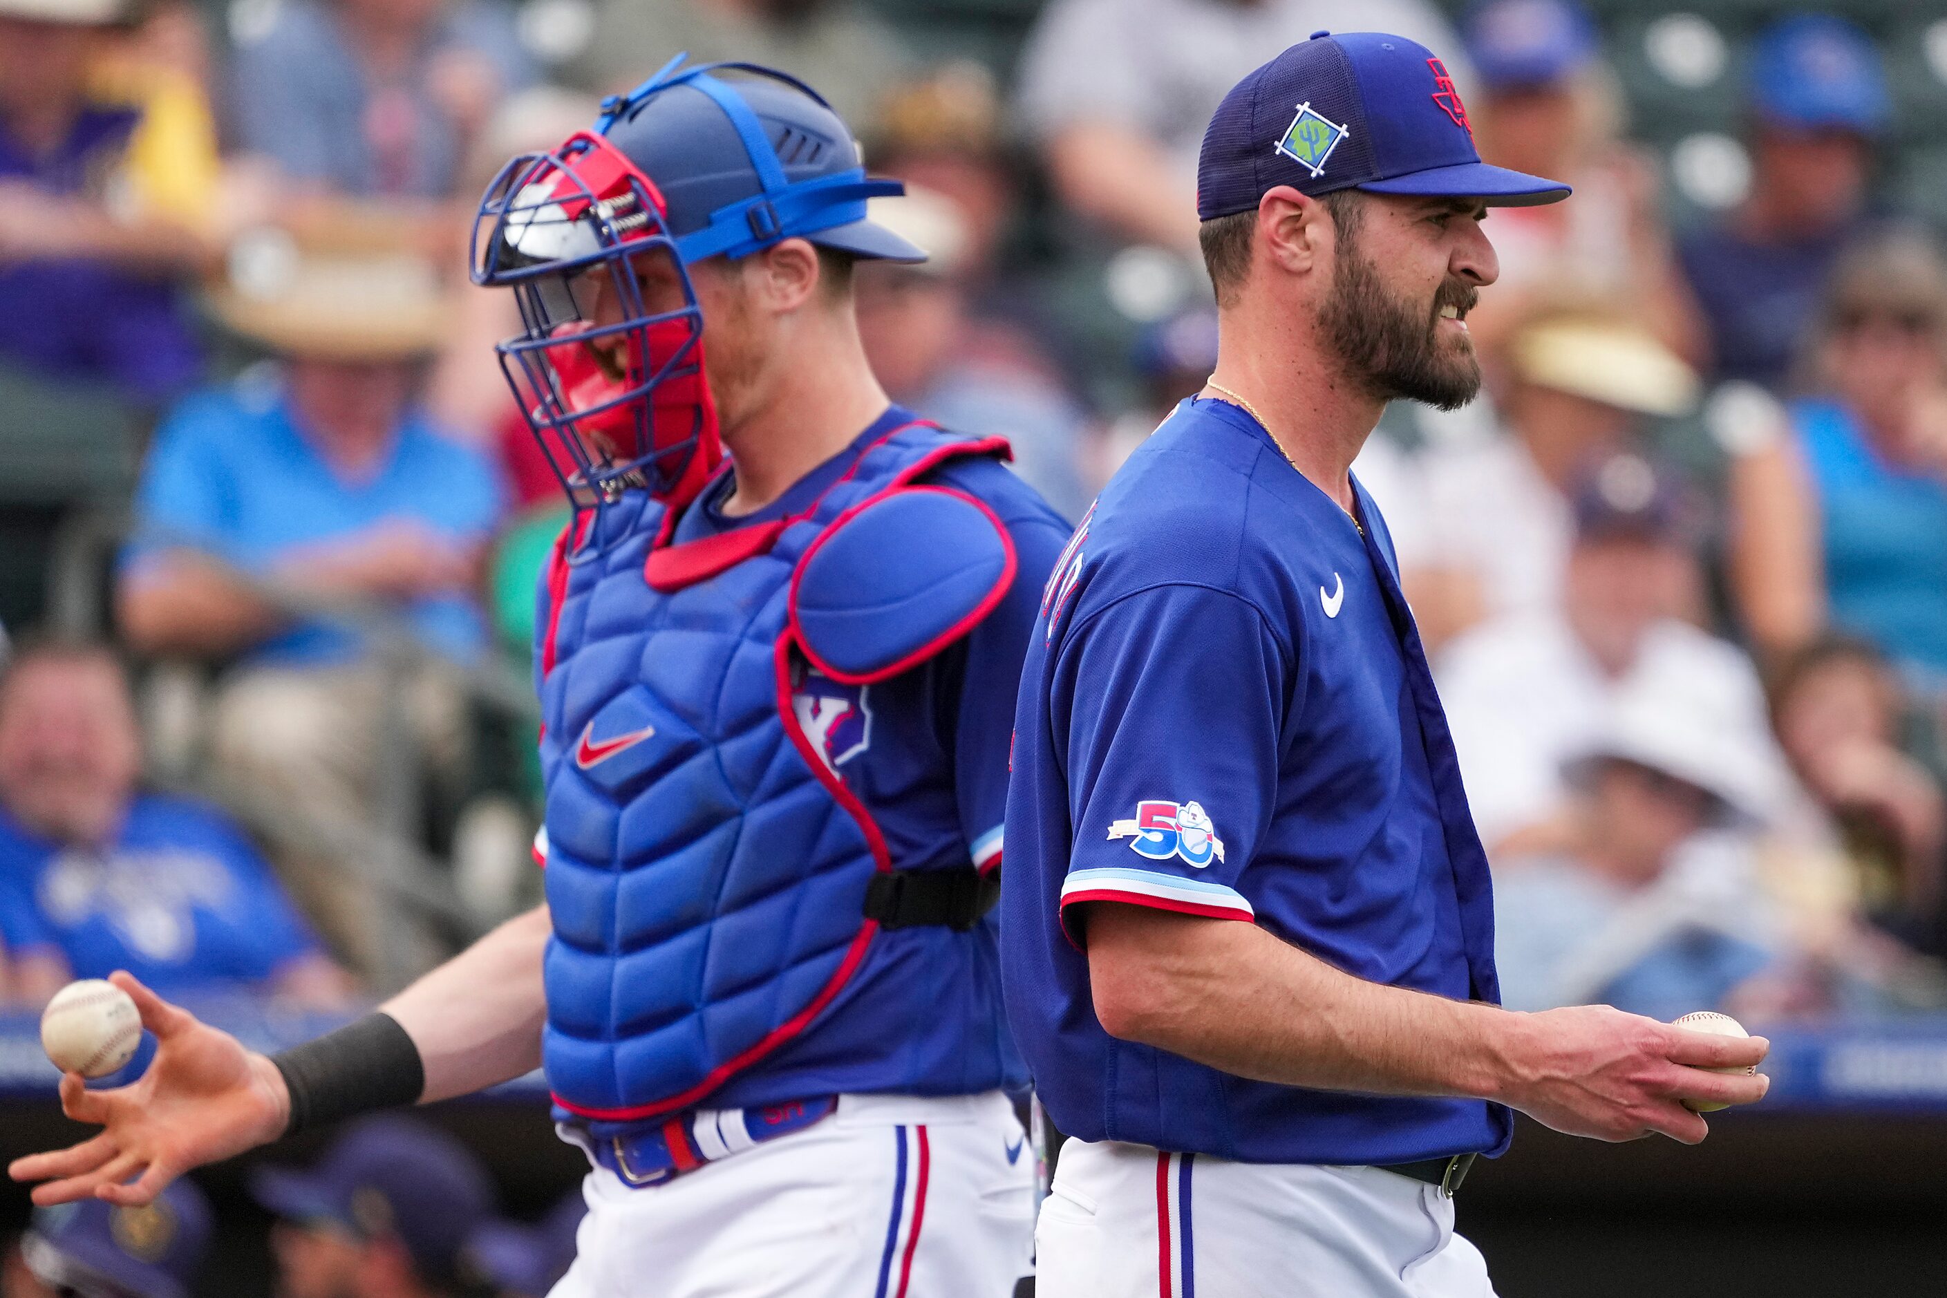
<instances>
[{"instance_id":1,"label":"spectator in light grey shirt directly behind pitcher's cap","mask_svg":"<svg viewBox=\"0 0 1947 1298\"><path fill-rule=\"evenodd\" d=\"M1055 0L1020 62L1020 109L1059 198L1131 243L1197 255L1197 146L1225 93L1318 29L1392 31L1472 72L1427 0Z\"/></svg>"}]
</instances>

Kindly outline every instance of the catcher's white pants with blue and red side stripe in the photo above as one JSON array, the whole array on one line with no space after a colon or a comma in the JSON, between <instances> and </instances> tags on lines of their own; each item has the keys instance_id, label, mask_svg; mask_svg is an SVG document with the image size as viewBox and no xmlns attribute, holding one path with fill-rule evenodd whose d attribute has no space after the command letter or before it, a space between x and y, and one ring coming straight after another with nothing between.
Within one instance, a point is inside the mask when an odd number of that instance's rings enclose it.
<instances>
[{"instance_id":1,"label":"catcher's white pants with blue and red side stripe","mask_svg":"<svg viewBox=\"0 0 1947 1298\"><path fill-rule=\"evenodd\" d=\"M549 1298L1010 1298L1032 1271L1034 1150L1001 1092L841 1096L695 1172L582 1183Z\"/></svg>"}]
</instances>

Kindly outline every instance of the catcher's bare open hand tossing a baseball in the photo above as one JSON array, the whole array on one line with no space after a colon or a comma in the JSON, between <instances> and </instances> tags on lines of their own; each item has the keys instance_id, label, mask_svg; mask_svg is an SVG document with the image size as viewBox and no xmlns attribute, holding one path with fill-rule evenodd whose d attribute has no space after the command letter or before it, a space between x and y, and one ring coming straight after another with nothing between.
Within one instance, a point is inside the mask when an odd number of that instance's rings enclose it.
<instances>
[{"instance_id":1,"label":"catcher's bare open hand tossing a baseball","mask_svg":"<svg viewBox=\"0 0 1947 1298\"><path fill-rule=\"evenodd\" d=\"M290 1125L290 1092L269 1057L127 973L109 981L134 998L142 1026L156 1033L156 1059L117 1090L86 1090L78 1072L60 1078L62 1111L101 1133L14 1160L8 1175L16 1181L45 1181L33 1189L39 1205L88 1197L146 1205L191 1168L269 1144Z\"/></svg>"}]
</instances>

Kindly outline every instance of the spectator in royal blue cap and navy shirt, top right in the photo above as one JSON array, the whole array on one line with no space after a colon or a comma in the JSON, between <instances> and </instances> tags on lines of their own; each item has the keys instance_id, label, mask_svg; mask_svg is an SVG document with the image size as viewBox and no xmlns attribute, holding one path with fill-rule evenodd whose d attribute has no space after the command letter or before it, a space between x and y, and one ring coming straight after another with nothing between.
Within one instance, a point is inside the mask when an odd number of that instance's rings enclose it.
<instances>
[{"instance_id":1,"label":"spectator in royal blue cap and navy shirt, top right","mask_svg":"<svg viewBox=\"0 0 1947 1298\"><path fill-rule=\"evenodd\" d=\"M1715 376L1783 385L1818 290L1865 218L1891 105L1879 51L1822 14L1758 39L1748 90L1750 195L1678 241Z\"/></svg>"}]
</instances>

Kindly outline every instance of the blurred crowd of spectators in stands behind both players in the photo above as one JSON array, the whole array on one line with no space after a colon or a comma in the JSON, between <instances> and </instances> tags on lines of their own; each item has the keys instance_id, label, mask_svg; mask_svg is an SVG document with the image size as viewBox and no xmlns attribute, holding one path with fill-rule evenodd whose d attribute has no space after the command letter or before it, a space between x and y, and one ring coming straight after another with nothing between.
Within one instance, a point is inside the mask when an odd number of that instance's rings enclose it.
<instances>
[{"instance_id":1,"label":"blurred crowd of spectators in stands behind both players","mask_svg":"<svg viewBox=\"0 0 1947 1298\"><path fill-rule=\"evenodd\" d=\"M343 1006L533 897L518 681L565 506L512 306L465 280L510 156L680 51L802 76L933 251L859 269L888 391L1075 518L1215 360L1209 111L1377 27L1443 54L1489 162L1575 185L1488 226L1488 395L1394 407L1355 465L1509 1002L1947 1008L1947 259L1887 183L1891 51L1780 4L1727 58L1606 8L0 0L0 531L119 537L80 597L0 566L8 994L129 967ZM1735 130L1632 125L1632 41ZM121 422L21 415L74 397ZM33 512L74 436L99 469Z\"/></svg>"}]
</instances>

